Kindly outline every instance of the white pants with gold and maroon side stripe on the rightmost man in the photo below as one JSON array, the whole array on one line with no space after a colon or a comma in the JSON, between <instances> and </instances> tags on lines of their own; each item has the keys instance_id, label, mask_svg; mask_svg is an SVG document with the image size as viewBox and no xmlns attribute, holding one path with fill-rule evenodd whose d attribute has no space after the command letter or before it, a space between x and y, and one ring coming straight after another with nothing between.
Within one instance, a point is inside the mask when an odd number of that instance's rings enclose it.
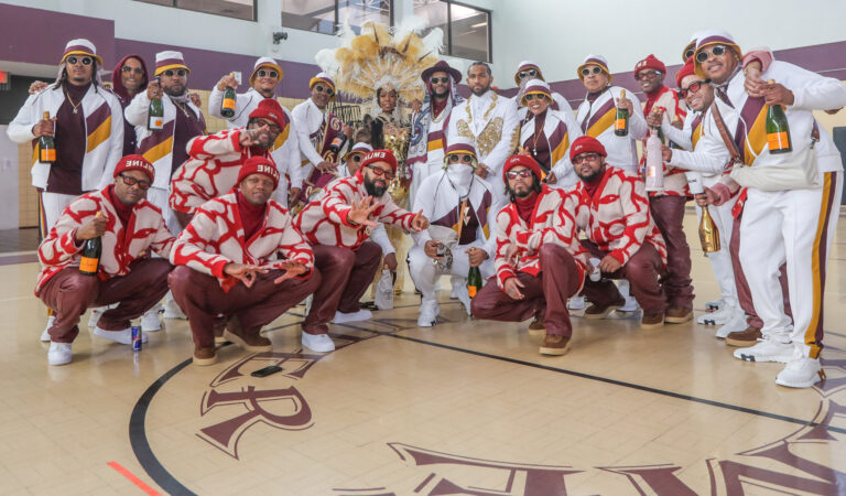
<instances>
[{"instance_id":1,"label":"white pants with gold and maroon side stripe on the rightmost man","mask_svg":"<svg viewBox=\"0 0 846 496\"><path fill-rule=\"evenodd\" d=\"M812 358L821 349L825 269L843 188L842 172L822 176L823 187L815 190L749 190L738 254L755 310L763 321L761 333L793 342ZM779 267L785 262L792 326L779 284Z\"/></svg>"}]
</instances>

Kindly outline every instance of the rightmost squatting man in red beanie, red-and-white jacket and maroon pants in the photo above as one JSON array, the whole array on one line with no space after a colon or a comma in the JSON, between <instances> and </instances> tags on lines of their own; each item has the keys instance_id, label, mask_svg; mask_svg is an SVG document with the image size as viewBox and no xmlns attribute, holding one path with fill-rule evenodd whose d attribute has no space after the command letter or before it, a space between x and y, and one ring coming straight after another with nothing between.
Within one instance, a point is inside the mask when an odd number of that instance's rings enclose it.
<instances>
[{"instance_id":1,"label":"rightmost squatting man in red beanie, red-and-white jacket and maroon pants","mask_svg":"<svg viewBox=\"0 0 846 496\"><path fill-rule=\"evenodd\" d=\"M587 234L583 246L604 278L587 280L583 294L593 303L585 319L605 319L625 300L607 279L626 279L643 308L641 327L664 324L666 299L659 276L666 266L666 248L649 212L646 184L632 172L605 163L605 147L583 136L570 148L570 158L581 179L572 191L578 197L576 225Z\"/></svg>"}]
</instances>

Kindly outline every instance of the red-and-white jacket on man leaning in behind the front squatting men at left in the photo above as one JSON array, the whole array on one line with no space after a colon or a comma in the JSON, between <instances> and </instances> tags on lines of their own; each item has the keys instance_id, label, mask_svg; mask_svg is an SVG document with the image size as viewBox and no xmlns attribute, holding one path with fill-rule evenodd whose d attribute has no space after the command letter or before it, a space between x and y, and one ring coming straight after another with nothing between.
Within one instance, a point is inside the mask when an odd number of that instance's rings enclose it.
<instances>
[{"instance_id":1,"label":"red-and-white jacket on man leaning in behind the front squatting men at left","mask_svg":"<svg viewBox=\"0 0 846 496\"><path fill-rule=\"evenodd\" d=\"M242 130L227 129L188 141L188 160L176 170L171 182L171 208L193 214L204 203L235 186L241 164L251 155L249 148L241 148ZM270 153L262 157L273 162Z\"/></svg>"}]
</instances>

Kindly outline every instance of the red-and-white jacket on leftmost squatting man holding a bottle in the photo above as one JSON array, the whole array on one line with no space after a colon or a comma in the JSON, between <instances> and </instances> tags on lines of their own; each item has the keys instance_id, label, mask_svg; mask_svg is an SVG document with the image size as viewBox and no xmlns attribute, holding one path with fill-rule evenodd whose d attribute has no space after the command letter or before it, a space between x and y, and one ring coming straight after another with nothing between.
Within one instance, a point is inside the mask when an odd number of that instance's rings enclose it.
<instances>
[{"instance_id":1,"label":"red-and-white jacket on leftmost squatting man holding a bottle","mask_svg":"<svg viewBox=\"0 0 846 496\"><path fill-rule=\"evenodd\" d=\"M132 208L129 225L124 226L109 200L109 187L76 198L50 229L50 235L39 246L41 273L35 284L36 295L58 271L79 266L84 244L76 242L76 230L97 212L102 212L108 219L106 233L101 237L100 279L128 274L129 265L149 256L150 250L162 257L170 255L174 239L164 225L162 211L147 200L141 200Z\"/></svg>"}]
</instances>

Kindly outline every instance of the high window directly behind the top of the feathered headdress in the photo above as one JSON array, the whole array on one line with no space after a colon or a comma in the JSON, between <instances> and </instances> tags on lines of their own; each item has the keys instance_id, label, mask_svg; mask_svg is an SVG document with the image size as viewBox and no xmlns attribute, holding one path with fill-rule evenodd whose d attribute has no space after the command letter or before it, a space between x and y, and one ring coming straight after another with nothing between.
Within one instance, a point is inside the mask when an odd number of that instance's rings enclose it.
<instances>
[{"instance_id":1,"label":"high window directly behind the top of the feathered headdress","mask_svg":"<svg viewBox=\"0 0 846 496\"><path fill-rule=\"evenodd\" d=\"M348 22L356 33L365 21L392 25L391 0L282 0L282 25L335 34Z\"/></svg>"}]
</instances>

